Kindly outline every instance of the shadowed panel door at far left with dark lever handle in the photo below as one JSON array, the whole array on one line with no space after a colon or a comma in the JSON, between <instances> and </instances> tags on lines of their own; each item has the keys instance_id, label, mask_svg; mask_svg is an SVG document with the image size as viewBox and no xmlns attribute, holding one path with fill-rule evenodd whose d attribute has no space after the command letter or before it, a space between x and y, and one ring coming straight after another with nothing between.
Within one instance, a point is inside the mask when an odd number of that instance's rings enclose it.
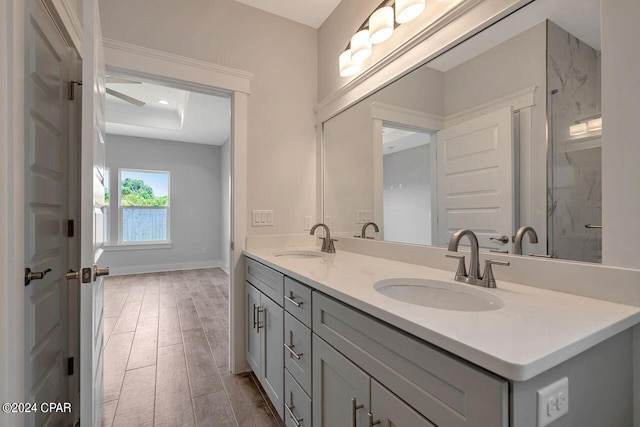
<instances>
[{"instance_id":1,"label":"shadowed panel door at far left with dark lever handle","mask_svg":"<svg viewBox=\"0 0 640 427\"><path fill-rule=\"evenodd\" d=\"M25 267L50 269L25 288L26 395L38 411L27 426L63 426L70 414L40 404L66 402L67 387L67 144L66 79L70 48L40 0L27 3L25 62ZM26 282L25 282L26 284Z\"/></svg>"}]
</instances>

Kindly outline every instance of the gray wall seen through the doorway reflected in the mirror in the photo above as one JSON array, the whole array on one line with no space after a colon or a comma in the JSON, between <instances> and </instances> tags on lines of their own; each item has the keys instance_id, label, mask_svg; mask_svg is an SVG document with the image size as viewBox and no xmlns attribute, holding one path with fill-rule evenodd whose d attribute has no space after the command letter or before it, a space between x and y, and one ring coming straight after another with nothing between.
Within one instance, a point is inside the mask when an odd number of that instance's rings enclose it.
<instances>
[{"instance_id":1,"label":"gray wall seen through the doorway reflected in the mirror","mask_svg":"<svg viewBox=\"0 0 640 427\"><path fill-rule=\"evenodd\" d=\"M383 165L384 240L430 245L430 144L387 154Z\"/></svg>"}]
</instances>

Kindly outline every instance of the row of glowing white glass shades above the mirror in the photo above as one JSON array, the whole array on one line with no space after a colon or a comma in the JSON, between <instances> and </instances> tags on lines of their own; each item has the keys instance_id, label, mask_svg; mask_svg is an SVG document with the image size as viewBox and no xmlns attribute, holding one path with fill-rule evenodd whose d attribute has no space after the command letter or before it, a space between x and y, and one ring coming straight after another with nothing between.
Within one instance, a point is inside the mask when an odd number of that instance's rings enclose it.
<instances>
[{"instance_id":1,"label":"row of glowing white glass shades above the mirror","mask_svg":"<svg viewBox=\"0 0 640 427\"><path fill-rule=\"evenodd\" d=\"M388 40L398 25L417 18L424 11L425 1L383 0L358 28L338 57L340 76L355 74L360 69L359 63L371 56L372 45Z\"/></svg>"}]
</instances>

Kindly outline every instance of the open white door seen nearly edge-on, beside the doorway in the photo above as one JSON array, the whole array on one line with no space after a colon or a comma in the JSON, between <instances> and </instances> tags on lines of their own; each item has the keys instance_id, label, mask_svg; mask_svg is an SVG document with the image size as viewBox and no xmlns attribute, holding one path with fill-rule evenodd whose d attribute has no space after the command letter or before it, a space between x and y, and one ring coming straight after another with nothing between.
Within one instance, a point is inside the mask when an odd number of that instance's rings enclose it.
<instances>
[{"instance_id":1,"label":"open white door seen nearly edge-on, beside the doorway","mask_svg":"<svg viewBox=\"0 0 640 427\"><path fill-rule=\"evenodd\" d=\"M80 419L83 425L100 426L104 285L95 269L102 267L104 246L105 70L98 2L84 0L83 7L80 263L94 271L80 285Z\"/></svg>"}]
</instances>

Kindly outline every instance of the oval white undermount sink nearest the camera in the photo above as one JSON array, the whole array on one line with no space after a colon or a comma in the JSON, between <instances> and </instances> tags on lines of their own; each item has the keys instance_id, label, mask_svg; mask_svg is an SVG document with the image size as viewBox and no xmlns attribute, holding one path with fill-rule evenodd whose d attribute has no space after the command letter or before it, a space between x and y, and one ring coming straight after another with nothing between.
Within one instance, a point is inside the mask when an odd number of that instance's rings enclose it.
<instances>
[{"instance_id":1,"label":"oval white undermount sink nearest the camera","mask_svg":"<svg viewBox=\"0 0 640 427\"><path fill-rule=\"evenodd\" d=\"M452 311L492 311L504 307L499 297L458 283L429 279L387 279L374 289L389 298L423 307Z\"/></svg>"}]
</instances>

